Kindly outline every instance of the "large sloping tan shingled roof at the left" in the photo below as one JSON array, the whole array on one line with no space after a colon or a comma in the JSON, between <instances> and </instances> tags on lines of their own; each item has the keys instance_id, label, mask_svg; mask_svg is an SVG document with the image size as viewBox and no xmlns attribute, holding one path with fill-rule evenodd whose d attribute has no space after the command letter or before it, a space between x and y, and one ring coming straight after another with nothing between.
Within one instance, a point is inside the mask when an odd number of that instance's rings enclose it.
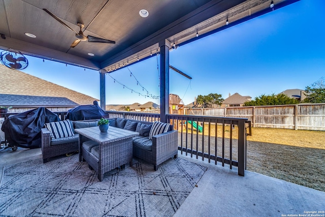
<instances>
[{"instance_id":1,"label":"large sloping tan shingled roof at the left","mask_svg":"<svg viewBox=\"0 0 325 217\"><path fill-rule=\"evenodd\" d=\"M79 105L92 105L94 100L99 101L75 90L18 70L9 69L3 65L0 65L0 94L64 97Z\"/></svg>"}]
</instances>

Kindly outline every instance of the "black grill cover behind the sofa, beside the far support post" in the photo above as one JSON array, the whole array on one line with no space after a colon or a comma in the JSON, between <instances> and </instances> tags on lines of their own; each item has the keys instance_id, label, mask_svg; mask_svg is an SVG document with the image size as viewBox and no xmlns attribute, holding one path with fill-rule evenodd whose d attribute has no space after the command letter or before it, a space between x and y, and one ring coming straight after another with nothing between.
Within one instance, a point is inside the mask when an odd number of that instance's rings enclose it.
<instances>
[{"instance_id":1,"label":"black grill cover behind the sofa, beside the far support post","mask_svg":"<svg viewBox=\"0 0 325 217\"><path fill-rule=\"evenodd\" d=\"M81 105L75 108L69 109L66 119L69 120L90 120L109 118L109 114L106 113L98 105Z\"/></svg>"}]
</instances>

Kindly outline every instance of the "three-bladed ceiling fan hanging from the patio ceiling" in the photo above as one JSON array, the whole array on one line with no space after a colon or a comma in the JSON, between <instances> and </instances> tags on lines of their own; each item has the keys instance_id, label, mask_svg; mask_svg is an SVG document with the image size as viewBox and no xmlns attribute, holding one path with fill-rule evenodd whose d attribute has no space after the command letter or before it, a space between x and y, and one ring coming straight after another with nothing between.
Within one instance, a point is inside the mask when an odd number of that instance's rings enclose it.
<instances>
[{"instance_id":1,"label":"three-bladed ceiling fan hanging from the patio ceiling","mask_svg":"<svg viewBox=\"0 0 325 217\"><path fill-rule=\"evenodd\" d=\"M100 42L100 43L110 43L110 44L115 44L115 41L111 41L111 40L107 40L107 39L101 39L101 38L97 38L94 36L85 36L82 32L82 28L84 27L84 24L82 23L78 23L78 26L80 27L80 31L79 33L77 33L73 28L71 28L69 25L67 25L66 23L64 23L62 20L60 20L57 16L55 16L54 14L52 14L50 11L48 11L47 9L43 8L43 10L48 13L49 15L51 15L54 19L56 19L57 21L59 21L59 23L61 23L62 25L66 26L69 30L71 30L72 32L76 33L76 40L74 42L72 42L71 46L72 48L76 47L77 44L79 44L80 41L87 41L88 42Z\"/></svg>"}]
</instances>

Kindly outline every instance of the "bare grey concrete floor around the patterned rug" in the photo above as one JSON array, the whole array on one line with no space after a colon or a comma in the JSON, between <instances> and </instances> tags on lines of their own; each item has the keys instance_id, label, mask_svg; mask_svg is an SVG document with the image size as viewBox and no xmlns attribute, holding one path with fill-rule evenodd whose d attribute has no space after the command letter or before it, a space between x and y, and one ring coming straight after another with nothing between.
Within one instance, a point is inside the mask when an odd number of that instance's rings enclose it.
<instances>
[{"instance_id":1,"label":"bare grey concrete floor around the patterned rug","mask_svg":"<svg viewBox=\"0 0 325 217\"><path fill-rule=\"evenodd\" d=\"M239 176L237 168L215 166L180 152L178 157L208 170L174 216L325 216L321 213L325 192L247 170L244 177ZM0 151L0 178L4 166L39 158L40 148Z\"/></svg>"}]
</instances>

